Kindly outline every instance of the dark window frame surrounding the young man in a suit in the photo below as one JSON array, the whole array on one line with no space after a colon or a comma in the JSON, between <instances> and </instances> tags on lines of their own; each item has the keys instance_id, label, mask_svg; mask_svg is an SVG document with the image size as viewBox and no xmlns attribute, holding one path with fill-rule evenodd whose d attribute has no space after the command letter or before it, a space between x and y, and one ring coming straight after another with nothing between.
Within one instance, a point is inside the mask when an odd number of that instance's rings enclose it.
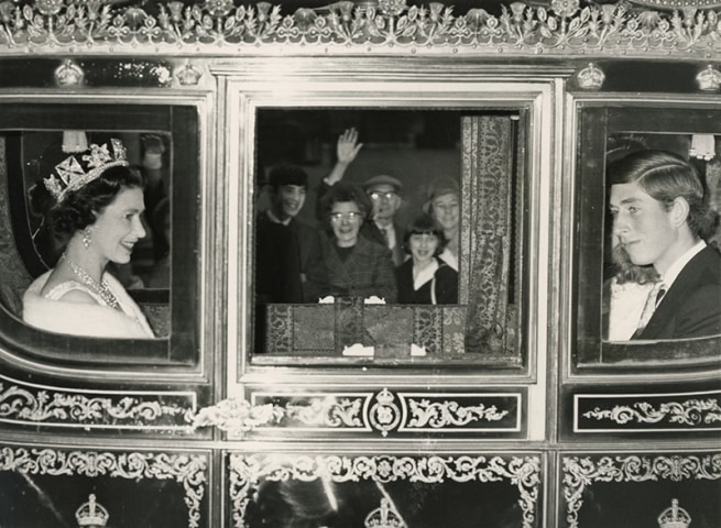
<instances>
[{"instance_id":1,"label":"dark window frame surrounding the young man in a suit","mask_svg":"<svg viewBox=\"0 0 721 528\"><path fill-rule=\"evenodd\" d=\"M575 208L578 213L573 244L577 265L571 302L571 321L576 324L571 338L571 372L678 374L718 369L721 337L611 342L603 339L601 323L608 139L614 134L721 135L721 110L713 105L702 99L695 102L577 101Z\"/></svg>"}]
</instances>

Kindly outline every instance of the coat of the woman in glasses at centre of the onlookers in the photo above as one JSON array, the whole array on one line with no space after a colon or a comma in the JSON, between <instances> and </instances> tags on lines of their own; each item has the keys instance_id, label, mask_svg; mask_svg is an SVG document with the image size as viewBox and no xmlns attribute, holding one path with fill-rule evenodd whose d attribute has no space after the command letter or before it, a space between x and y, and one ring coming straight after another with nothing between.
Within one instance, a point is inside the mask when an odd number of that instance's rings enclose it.
<instances>
[{"instance_id":1,"label":"coat of the woman in glasses at centre of the onlookers","mask_svg":"<svg viewBox=\"0 0 721 528\"><path fill-rule=\"evenodd\" d=\"M340 258L334 237L323 240L323 254L328 268L330 293L351 297L375 295L386 302L395 302L397 290L391 250L363 237L346 258Z\"/></svg>"}]
</instances>

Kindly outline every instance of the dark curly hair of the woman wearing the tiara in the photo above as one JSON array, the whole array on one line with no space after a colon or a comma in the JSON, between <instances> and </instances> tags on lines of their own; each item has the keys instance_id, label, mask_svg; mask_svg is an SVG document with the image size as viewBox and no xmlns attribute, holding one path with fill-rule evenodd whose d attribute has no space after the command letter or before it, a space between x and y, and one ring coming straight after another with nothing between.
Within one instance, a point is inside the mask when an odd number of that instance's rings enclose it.
<instances>
[{"instance_id":1,"label":"dark curly hair of the woman wearing the tiara","mask_svg":"<svg viewBox=\"0 0 721 528\"><path fill-rule=\"evenodd\" d=\"M67 242L76 231L95 223L96 215L108 207L123 189L143 188L139 170L114 166L57 204L42 182L30 189L30 208L42 215L58 242Z\"/></svg>"}]
</instances>

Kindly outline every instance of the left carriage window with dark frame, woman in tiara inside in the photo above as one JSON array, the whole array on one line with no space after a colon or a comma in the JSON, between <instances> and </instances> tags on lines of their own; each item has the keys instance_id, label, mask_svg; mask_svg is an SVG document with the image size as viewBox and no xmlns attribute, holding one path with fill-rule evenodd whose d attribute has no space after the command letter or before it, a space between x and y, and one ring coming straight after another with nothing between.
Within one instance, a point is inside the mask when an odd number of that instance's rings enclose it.
<instances>
[{"instance_id":1,"label":"left carriage window with dark frame, woman in tiara inside","mask_svg":"<svg viewBox=\"0 0 721 528\"><path fill-rule=\"evenodd\" d=\"M3 116L0 332L59 363L194 362L199 220L182 211L195 210L196 110L29 105Z\"/></svg>"}]
</instances>

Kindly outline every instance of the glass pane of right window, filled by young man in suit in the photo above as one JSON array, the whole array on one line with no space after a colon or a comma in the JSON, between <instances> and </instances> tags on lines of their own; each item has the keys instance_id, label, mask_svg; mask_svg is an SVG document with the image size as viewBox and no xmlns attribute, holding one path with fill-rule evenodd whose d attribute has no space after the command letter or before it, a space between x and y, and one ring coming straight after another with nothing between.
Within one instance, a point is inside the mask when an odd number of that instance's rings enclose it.
<instances>
[{"instance_id":1,"label":"glass pane of right window, filled by young man in suit","mask_svg":"<svg viewBox=\"0 0 721 528\"><path fill-rule=\"evenodd\" d=\"M671 134L609 141L609 341L721 334L721 253L713 242L719 162L690 157L688 141Z\"/></svg>"}]
</instances>

